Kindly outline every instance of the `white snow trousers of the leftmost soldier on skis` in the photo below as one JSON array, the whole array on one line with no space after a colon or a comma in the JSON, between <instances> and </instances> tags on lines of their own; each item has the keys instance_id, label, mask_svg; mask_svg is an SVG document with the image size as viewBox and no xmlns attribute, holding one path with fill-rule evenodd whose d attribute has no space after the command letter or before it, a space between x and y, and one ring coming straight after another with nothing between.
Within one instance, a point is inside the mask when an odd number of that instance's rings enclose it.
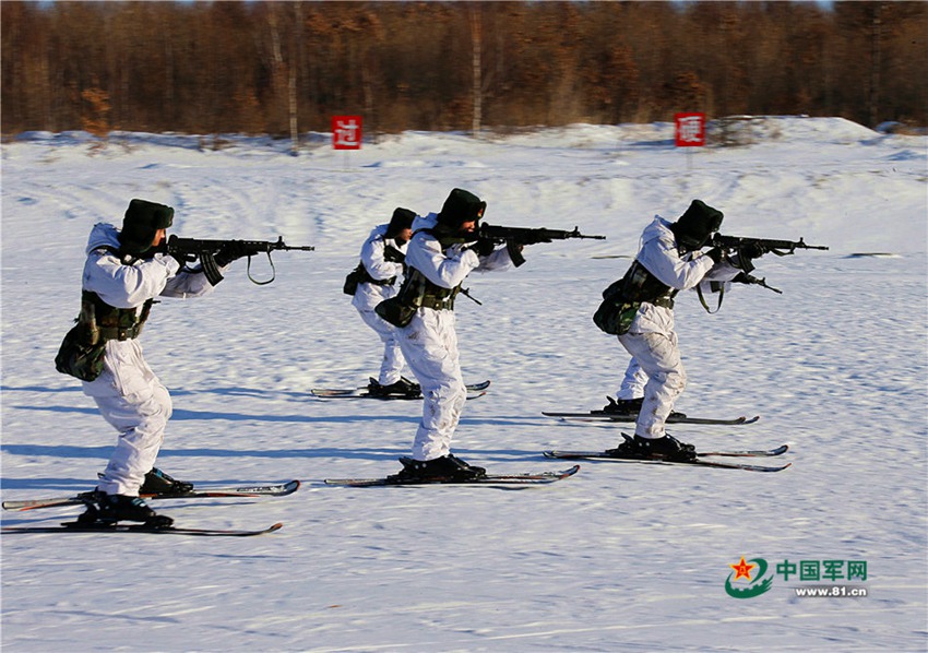
<instances>
[{"instance_id":1,"label":"white snow trousers of the leftmost soldier on skis","mask_svg":"<svg viewBox=\"0 0 928 653\"><path fill-rule=\"evenodd\" d=\"M96 380L84 382L84 393L119 431L97 488L134 497L158 458L172 411L170 395L145 363L138 341L110 341L105 363Z\"/></svg>"}]
</instances>

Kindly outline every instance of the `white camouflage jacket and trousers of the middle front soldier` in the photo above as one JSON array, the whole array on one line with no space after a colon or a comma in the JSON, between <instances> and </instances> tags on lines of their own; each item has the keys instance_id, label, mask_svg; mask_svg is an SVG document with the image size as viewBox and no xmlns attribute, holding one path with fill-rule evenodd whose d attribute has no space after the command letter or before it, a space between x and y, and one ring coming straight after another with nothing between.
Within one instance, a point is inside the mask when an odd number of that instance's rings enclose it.
<instances>
[{"instance_id":1,"label":"white camouflage jacket and trousers of the middle front soldier","mask_svg":"<svg viewBox=\"0 0 928 653\"><path fill-rule=\"evenodd\" d=\"M513 261L505 247L488 257L478 257L465 245L455 244L442 251L439 241L421 229L431 229L437 215L416 217L413 239L406 251L406 264L421 272L442 288L454 288L472 272L505 270ZM451 452L451 439L467 389L461 372L457 333L453 310L419 308L412 322L396 330L406 363L423 388L423 419L413 441L413 458L430 461Z\"/></svg>"}]
</instances>

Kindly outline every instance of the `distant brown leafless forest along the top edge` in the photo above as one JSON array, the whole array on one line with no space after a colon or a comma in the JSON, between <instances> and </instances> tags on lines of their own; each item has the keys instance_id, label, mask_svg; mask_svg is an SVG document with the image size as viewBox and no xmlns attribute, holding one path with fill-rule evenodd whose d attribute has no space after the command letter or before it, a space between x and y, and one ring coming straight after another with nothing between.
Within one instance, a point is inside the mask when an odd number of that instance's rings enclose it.
<instances>
[{"instance_id":1,"label":"distant brown leafless forest along the top edge","mask_svg":"<svg viewBox=\"0 0 928 653\"><path fill-rule=\"evenodd\" d=\"M2 133L928 124L928 2L0 3Z\"/></svg>"}]
</instances>

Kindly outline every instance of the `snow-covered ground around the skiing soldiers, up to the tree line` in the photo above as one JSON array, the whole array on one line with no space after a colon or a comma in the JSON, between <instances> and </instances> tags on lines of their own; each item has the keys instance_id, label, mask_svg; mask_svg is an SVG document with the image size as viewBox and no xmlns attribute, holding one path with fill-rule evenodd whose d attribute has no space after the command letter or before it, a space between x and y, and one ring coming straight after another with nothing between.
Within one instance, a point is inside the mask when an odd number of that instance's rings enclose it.
<instances>
[{"instance_id":1,"label":"snow-covered ground around the skiing soldiers, up to the tree line","mask_svg":"<svg viewBox=\"0 0 928 653\"><path fill-rule=\"evenodd\" d=\"M753 145L695 152L673 146L669 124L484 141L413 132L348 153L319 134L298 157L240 138L213 151L119 134L96 155L80 133L4 143L4 500L92 487L115 440L52 364L94 223L119 224L144 198L176 207L181 236L317 247L275 256L277 280L263 287L236 263L211 297L156 305L143 336L175 401L159 466L200 484L304 482L286 498L155 507L178 525L284 529L5 535L4 649L924 651L928 139L841 119L762 127ZM483 306L459 301L462 363L492 385L465 408L460 455L492 471L554 470L566 465L540 451L618 442L619 427L540 412L600 407L616 389L627 355L591 321L599 293L655 213L674 218L700 198L725 212L725 233L831 247L761 259L756 274L783 295L739 286L713 316L694 295L677 304L690 377L679 409L761 419L670 432L703 450L789 442L793 466L588 462L533 489L324 486L398 470L420 408L309 395L361 385L379 366L344 276L395 206L436 211L454 187L487 200L490 224L608 237L533 246L524 266L468 280ZM770 565L770 591L726 593L742 556ZM833 560L842 573L866 562L866 579L774 572ZM820 585L868 595L796 594Z\"/></svg>"}]
</instances>

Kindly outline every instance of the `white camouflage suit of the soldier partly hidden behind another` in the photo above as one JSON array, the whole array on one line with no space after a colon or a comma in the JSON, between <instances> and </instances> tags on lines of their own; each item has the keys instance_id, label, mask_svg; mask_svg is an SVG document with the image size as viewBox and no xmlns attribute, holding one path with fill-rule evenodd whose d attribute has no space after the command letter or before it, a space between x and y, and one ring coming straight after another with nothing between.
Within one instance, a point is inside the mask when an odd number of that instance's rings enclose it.
<instances>
[{"instance_id":1,"label":"white camouflage suit of the soldier partly hidden behind another","mask_svg":"<svg viewBox=\"0 0 928 653\"><path fill-rule=\"evenodd\" d=\"M401 246L395 239L386 238L389 226L384 224L374 227L361 246L361 263L367 273L378 281L398 277L403 274L403 263L394 263L383 258L386 246L392 246L403 253L406 253L408 247L406 242ZM378 378L378 383L381 385L391 385L398 381L406 363L396 339L396 328L373 311L378 304L395 296L397 292L398 282L390 286L360 283L352 299L352 306L358 310L365 323L377 332L383 343L383 360Z\"/></svg>"}]
</instances>

